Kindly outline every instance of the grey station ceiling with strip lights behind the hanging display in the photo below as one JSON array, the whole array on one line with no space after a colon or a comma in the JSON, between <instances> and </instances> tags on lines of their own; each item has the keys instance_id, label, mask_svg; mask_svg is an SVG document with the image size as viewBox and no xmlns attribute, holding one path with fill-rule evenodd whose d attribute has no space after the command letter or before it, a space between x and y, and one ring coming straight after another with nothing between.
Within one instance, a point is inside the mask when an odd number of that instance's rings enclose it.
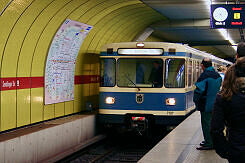
<instances>
[{"instance_id":1,"label":"grey station ceiling with strip lights behind the hanging display","mask_svg":"<svg viewBox=\"0 0 245 163\"><path fill-rule=\"evenodd\" d=\"M168 21L156 22L151 26L153 35L170 42L187 43L191 46L216 48L224 57L234 56L235 50L218 29L210 29L209 0L142 0ZM235 1L234 1L235 2ZM212 3L226 3L213 0ZM233 2L229 2L233 3ZM244 3L244 2L241 2ZM238 29L227 29L225 35L238 43L241 40Z\"/></svg>"}]
</instances>

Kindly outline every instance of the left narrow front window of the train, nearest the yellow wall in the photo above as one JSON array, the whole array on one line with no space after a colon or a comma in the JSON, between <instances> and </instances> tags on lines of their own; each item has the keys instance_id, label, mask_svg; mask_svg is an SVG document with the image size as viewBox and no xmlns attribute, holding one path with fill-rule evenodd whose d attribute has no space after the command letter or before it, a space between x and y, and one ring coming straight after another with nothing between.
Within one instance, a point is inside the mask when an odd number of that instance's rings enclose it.
<instances>
[{"instance_id":1,"label":"left narrow front window of the train, nearest the yellow wall","mask_svg":"<svg viewBox=\"0 0 245 163\"><path fill-rule=\"evenodd\" d=\"M100 64L100 86L114 87L116 76L116 60L115 59L101 59Z\"/></svg>"}]
</instances>

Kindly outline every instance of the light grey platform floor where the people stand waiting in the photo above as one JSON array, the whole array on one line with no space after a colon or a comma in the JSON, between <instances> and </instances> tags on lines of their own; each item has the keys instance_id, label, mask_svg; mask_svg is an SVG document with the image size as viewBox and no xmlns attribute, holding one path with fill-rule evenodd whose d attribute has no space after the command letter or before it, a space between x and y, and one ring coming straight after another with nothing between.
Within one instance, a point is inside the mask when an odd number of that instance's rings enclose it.
<instances>
[{"instance_id":1,"label":"light grey platform floor where the people stand waiting","mask_svg":"<svg viewBox=\"0 0 245 163\"><path fill-rule=\"evenodd\" d=\"M203 140L200 119L200 112L194 112L138 163L228 163L220 158L215 150L196 150Z\"/></svg>"}]
</instances>

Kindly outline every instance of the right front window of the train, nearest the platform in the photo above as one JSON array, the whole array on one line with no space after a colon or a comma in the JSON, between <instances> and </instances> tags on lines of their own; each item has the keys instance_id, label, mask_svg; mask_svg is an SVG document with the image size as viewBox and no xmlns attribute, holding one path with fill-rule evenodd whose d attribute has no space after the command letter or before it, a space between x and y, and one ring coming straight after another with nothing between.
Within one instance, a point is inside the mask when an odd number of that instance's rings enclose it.
<instances>
[{"instance_id":1,"label":"right front window of the train, nearest the platform","mask_svg":"<svg viewBox=\"0 0 245 163\"><path fill-rule=\"evenodd\" d=\"M185 87L185 60L167 59L165 62L165 87L184 88Z\"/></svg>"}]
</instances>

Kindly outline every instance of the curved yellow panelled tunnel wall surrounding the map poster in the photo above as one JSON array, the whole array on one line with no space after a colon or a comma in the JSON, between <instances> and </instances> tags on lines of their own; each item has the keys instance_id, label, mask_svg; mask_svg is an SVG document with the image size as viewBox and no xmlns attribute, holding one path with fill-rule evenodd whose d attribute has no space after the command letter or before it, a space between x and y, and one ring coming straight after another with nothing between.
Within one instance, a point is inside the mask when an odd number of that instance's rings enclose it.
<instances>
[{"instance_id":1,"label":"curved yellow panelled tunnel wall surrounding the map poster","mask_svg":"<svg viewBox=\"0 0 245 163\"><path fill-rule=\"evenodd\" d=\"M9 0L1 0L0 12ZM52 39L65 19L93 26L75 75L99 75L102 45L132 41L164 19L139 0L14 0L0 16L0 77L43 77ZM75 85L74 101L44 105L44 88L1 91L0 131L98 106L98 83Z\"/></svg>"}]
</instances>

